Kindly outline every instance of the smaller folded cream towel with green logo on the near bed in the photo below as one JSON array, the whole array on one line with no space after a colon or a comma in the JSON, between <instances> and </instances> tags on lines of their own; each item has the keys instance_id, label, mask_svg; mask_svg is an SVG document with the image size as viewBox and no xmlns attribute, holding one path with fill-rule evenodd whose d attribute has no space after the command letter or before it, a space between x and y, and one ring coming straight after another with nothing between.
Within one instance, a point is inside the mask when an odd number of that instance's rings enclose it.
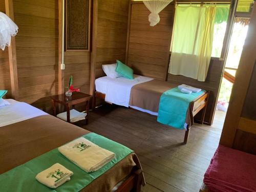
<instances>
[{"instance_id":1,"label":"smaller folded cream towel with green logo on the near bed","mask_svg":"<svg viewBox=\"0 0 256 192\"><path fill-rule=\"evenodd\" d=\"M35 178L37 181L50 188L57 188L66 181L69 181L72 175L73 172L71 172L71 170L59 163L55 163L48 169L37 174Z\"/></svg>"}]
</instances>

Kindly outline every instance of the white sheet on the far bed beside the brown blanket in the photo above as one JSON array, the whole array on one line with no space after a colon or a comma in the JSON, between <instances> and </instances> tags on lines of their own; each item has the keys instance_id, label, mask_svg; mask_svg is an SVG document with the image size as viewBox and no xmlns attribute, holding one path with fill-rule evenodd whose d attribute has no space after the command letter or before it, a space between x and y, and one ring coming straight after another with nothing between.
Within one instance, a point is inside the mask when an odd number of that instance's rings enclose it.
<instances>
[{"instance_id":1,"label":"white sheet on the far bed beside the brown blanket","mask_svg":"<svg viewBox=\"0 0 256 192\"><path fill-rule=\"evenodd\" d=\"M133 80L124 77L114 79L107 76L100 77L95 80L95 88L96 91L106 95L105 101L128 107L132 87L136 84L153 80L153 78L140 75L134 75L134 77ZM137 106L130 107L151 115L158 115L158 113L138 108Z\"/></svg>"}]
</instances>

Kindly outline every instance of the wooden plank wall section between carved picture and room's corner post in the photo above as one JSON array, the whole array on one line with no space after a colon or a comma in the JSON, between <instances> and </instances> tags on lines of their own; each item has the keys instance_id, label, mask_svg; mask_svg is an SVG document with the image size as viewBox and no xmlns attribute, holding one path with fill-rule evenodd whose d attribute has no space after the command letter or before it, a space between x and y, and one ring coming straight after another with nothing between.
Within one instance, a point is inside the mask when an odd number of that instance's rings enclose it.
<instances>
[{"instance_id":1,"label":"wooden plank wall section between carved picture and room's corner post","mask_svg":"<svg viewBox=\"0 0 256 192\"><path fill-rule=\"evenodd\" d=\"M129 0L99 0L96 77L103 76L102 64L125 61Z\"/></svg>"}]
</instances>

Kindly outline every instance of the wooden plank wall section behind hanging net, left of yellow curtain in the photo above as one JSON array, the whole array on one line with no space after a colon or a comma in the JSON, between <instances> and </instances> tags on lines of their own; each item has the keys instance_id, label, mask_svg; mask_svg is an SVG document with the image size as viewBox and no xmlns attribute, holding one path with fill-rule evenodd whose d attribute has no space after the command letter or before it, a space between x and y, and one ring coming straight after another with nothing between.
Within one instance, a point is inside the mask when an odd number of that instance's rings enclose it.
<instances>
[{"instance_id":1,"label":"wooden plank wall section behind hanging net, left of yellow curtain","mask_svg":"<svg viewBox=\"0 0 256 192\"><path fill-rule=\"evenodd\" d=\"M132 4L127 65L135 74L165 80L173 32L175 5L160 12L160 22L151 27L150 11L142 4Z\"/></svg>"}]
</instances>

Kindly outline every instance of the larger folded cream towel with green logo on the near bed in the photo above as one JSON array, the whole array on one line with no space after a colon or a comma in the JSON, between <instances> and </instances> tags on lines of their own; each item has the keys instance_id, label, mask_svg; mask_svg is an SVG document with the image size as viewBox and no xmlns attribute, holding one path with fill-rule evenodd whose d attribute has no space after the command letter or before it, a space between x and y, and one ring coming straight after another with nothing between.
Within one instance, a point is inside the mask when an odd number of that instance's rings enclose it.
<instances>
[{"instance_id":1,"label":"larger folded cream towel with green logo on the near bed","mask_svg":"<svg viewBox=\"0 0 256 192\"><path fill-rule=\"evenodd\" d=\"M113 152L105 150L83 137L60 146L58 150L87 173L95 172L115 157Z\"/></svg>"}]
</instances>

